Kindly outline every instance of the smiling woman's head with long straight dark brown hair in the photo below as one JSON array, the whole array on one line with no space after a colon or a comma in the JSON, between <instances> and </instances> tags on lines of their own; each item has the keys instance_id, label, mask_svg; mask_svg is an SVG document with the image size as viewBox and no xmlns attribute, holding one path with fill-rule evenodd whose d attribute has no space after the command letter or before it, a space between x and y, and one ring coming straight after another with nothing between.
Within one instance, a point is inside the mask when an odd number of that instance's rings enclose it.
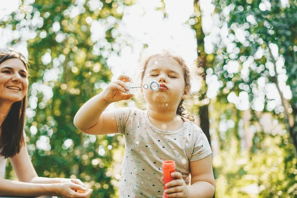
<instances>
[{"instance_id":1,"label":"smiling woman's head with long straight dark brown hair","mask_svg":"<svg viewBox=\"0 0 297 198\"><path fill-rule=\"evenodd\" d=\"M28 61L19 53L0 52L0 155L5 158L18 153L24 145L28 65ZM15 119L16 117L19 119Z\"/></svg>"}]
</instances>

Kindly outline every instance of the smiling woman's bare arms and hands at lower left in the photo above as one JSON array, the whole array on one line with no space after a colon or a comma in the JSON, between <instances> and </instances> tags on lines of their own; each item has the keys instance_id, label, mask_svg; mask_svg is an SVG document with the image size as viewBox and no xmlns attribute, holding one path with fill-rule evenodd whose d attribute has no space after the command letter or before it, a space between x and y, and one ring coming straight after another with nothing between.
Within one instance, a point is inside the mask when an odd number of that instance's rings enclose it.
<instances>
[{"instance_id":1,"label":"smiling woman's bare arms and hands at lower left","mask_svg":"<svg viewBox=\"0 0 297 198\"><path fill-rule=\"evenodd\" d=\"M69 182L58 183L66 179L38 177L25 146L21 148L18 154L10 158L10 162L19 182L0 177L0 196L88 198L92 194L92 190L85 194L76 193L74 190L85 192L86 188L70 180Z\"/></svg>"}]
</instances>

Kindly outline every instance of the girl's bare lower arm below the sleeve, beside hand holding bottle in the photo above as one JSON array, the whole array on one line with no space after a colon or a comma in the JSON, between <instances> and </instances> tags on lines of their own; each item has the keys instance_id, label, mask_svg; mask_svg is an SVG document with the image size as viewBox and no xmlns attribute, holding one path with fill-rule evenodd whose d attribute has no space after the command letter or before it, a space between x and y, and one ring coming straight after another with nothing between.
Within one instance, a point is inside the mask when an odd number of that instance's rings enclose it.
<instances>
[{"instance_id":1,"label":"girl's bare lower arm below the sleeve, beside hand holding bottle","mask_svg":"<svg viewBox=\"0 0 297 198\"><path fill-rule=\"evenodd\" d=\"M212 170L211 155L197 161L190 162L191 186L189 198L212 198L215 181Z\"/></svg>"}]
</instances>

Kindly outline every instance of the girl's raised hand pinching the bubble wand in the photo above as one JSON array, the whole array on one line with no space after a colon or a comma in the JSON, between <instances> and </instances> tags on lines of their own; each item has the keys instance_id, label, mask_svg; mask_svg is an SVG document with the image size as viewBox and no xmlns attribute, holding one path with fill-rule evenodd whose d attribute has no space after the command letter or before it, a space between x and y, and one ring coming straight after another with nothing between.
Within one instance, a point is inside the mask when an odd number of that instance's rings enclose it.
<instances>
[{"instance_id":1,"label":"girl's raised hand pinching the bubble wand","mask_svg":"<svg viewBox=\"0 0 297 198\"><path fill-rule=\"evenodd\" d=\"M102 92L102 97L106 102L116 102L120 100L131 99L133 94L124 94L129 91L125 82L130 82L131 78L125 74L120 75L116 81L109 85Z\"/></svg>"}]
</instances>

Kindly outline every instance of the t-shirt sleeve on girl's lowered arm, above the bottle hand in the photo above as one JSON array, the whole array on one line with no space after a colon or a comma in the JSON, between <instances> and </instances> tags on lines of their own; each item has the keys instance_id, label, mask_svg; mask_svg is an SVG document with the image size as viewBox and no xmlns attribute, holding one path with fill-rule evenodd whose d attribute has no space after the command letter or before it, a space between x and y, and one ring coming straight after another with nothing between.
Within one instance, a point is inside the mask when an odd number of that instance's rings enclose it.
<instances>
[{"instance_id":1,"label":"t-shirt sleeve on girl's lowered arm, above the bottle hand","mask_svg":"<svg viewBox=\"0 0 297 198\"><path fill-rule=\"evenodd\" d=\"M208 140L202 130L199 128L196 130L198 135L196 136L196 142L193 148L193 154L190 161L197 161L212 153Z\"/></svg>"}]
</instances>

